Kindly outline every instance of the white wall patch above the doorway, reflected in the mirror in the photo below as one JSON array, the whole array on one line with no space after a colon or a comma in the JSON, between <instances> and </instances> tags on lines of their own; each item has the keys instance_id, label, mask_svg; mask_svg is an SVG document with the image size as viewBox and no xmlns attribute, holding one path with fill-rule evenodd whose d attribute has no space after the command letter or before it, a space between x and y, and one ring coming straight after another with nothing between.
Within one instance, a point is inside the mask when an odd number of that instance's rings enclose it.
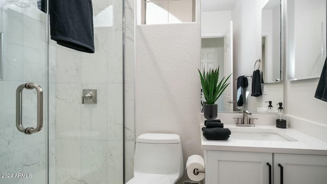
<instances>
[{"instance_id":1,"label":"white wall patch above the doorway, reflected in the mirror","mask_svg":"<svg viewBox=\"0 0 327 184\"><path fill-rule=\"evenodd\" d=\"M230 20L231 11L201 12L201 36L224 36Z\"/></svg>"}]
</instances>

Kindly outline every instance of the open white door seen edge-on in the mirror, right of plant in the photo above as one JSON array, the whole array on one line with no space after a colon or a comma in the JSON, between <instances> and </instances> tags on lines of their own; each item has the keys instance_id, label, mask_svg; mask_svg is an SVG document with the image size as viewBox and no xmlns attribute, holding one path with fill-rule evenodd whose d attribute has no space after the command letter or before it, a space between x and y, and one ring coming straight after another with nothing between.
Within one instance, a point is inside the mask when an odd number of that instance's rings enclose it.
<instances>
[{"instance_id":1,"label":"open white door seen edge-on in the mirror, right of plant","mask_svg":"<svg viewBox=\"0 0 327 184\"><path fill-rule=\"evenodd\" d=\"M225 111L233 111L233 22L230 21L230 27L224 36L224 74L228 79L229 85L224 92Z\"/></svg>"}]
</instances>

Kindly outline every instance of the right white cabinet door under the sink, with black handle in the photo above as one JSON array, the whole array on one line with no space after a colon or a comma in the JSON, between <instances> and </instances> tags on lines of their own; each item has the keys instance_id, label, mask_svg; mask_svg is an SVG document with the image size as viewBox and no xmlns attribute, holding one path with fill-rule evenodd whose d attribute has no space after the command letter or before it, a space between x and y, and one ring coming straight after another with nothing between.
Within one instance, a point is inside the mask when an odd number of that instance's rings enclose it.
<instances>
[{"instance_id":1,"label":"right white cabinet door under the sink, with black handle","mask_svg":"<svg viewBox=\"0 0 327 184\"><path fill-rule=\"evenodd\" d=\"M283 173L281 167L283 167ZM274 183L326 184L327 156L274 154Z\"/></svg>"}]
</instances>

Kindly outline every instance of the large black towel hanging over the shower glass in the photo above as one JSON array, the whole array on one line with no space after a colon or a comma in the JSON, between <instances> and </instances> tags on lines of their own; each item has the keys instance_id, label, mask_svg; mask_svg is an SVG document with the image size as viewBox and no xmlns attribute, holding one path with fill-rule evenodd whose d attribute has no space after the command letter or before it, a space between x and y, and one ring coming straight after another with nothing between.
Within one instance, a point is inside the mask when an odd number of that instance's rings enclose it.
<instances>
[{"instance_id":1,"label":"large black towel hanging over the shower glass","mask_svg":"<svg viewBox=\"0 0 327 184\"><path fill-rule=\"evenodd\" d=\"M51 39L81 52L94 53L91 0L51 0Z\"/></svg>"}]
</instances>

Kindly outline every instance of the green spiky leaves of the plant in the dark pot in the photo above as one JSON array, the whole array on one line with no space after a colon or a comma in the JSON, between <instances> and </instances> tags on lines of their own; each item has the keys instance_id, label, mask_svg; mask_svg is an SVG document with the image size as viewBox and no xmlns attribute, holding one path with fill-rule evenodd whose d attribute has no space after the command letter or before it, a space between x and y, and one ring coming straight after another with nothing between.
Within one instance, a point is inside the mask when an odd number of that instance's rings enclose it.
<instances>
[{"instance_id":1,"label":"green spiky leaves of the plant in the dark pot","mask_svg":"<svg viewBox=\"0 0 327 184\"><path fill-rule=\"evenodd\" d=\"M219 81L219 67L215 70L211 69L208 72L205 72L204 68L202 73L199 69L198 71L200 74L203 95L206 101L205 103L208 105L215 104L229 85L227 81L231 74L227 78L223 77L222 80Z\"/></svg>"}]
</instances>

